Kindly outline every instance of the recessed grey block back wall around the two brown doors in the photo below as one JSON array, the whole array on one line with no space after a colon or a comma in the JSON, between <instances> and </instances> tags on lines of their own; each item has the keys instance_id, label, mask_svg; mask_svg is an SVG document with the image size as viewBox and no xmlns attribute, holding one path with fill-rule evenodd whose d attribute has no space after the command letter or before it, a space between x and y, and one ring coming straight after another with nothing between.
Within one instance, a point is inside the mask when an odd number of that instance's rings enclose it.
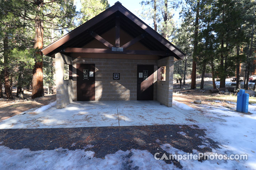
<instances>
[{"instance_id":1,"label":"recessed grey block back wall around the two brown doors","mask_svg":"<svg viewBox=\"0 0 256 170\"><path fill-rule=\"evenodd\" d=\"M154 100L156 100L156 60L77 58L73 61L73 92L77 100L76 63L95 64L95 100L137 100L137 64L154 65ZM120 80L113 80L120 73Z\"/></svg>"}]
</instances>

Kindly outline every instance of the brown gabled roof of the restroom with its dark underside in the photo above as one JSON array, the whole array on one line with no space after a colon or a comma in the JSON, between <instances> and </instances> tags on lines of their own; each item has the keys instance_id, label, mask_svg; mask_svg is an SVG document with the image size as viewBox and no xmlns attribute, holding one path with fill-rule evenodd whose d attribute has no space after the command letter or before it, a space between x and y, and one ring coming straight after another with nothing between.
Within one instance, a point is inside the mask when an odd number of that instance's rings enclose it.
<instances>
[{"instance_id":1,"label":"brown gabled roof of the restroom with its dark underside","mask_svg":"<svg viewBox=\"0 0 256 170\"><path fill-rule=\"evenodd\" d=\"M140 40L140 42L150 50L170 51L177 60L182 60L186 56L185 53L179 50L170 41L166 40L154 29L122 6L120 2L116 2L112 7L44 47L41 51L44 55L53 57L55 53L64 50L66 47L82 47L94 39L89 34L88 30L101 35L115 26L116 16L120 17L121 29L134 38L146 32L147 36Z\"/></svg>"}]
</instances>

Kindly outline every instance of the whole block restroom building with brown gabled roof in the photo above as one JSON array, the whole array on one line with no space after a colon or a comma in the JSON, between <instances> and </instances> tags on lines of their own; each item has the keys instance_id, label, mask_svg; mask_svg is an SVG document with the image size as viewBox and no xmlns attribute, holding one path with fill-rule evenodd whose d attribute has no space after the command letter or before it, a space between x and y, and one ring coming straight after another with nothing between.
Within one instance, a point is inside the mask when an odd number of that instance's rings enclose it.
<instances>
[{"instance_id":1,"label":"whole block restroom building with brown gabled roof","mask_svg":"<svg viewBox=\"0 0 256 170\"><path fill-rule=\"evenodd\" d=\"M185 57L120 2L41 51L55 58L57 108L106 100L172 107L174 62Z\"/></svg>"}]
</instances>

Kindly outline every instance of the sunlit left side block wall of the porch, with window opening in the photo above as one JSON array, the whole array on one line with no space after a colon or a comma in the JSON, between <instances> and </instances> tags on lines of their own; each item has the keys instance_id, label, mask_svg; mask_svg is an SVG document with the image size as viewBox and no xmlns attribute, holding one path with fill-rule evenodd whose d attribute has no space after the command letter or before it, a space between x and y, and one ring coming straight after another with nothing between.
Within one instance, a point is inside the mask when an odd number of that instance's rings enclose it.
<instances>
[{"instance_id":1,"label":"sunlit left side block wall of the porch, with window opening","mask_svg":"<svg viewBox=\"0 0 256 170\"><path fill-rule=\"evenodd\" d=\"M73 101L73 80L64 80L64 63L72 65L72 58L61 53L55 54L56 107L61 109Z\"/></svg>"}]
</instances>

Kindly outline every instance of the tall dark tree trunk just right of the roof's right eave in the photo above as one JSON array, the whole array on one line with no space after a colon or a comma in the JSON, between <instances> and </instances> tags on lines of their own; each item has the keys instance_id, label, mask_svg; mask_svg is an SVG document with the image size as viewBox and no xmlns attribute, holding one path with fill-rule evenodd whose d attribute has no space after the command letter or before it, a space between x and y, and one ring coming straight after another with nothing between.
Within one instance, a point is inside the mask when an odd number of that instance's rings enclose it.
<instances>
[{"instance_id":1,"label":"tall dark tree trunk just right of the roof's right eave","mask_svg":"<svg viewBox=\"0 0 256 170\"><path fill-rule=\"evenodd\" d=\"M198 24L199 24L199 4L200 0L197 0L196 22L194 30L194 48L193 48L193 62L191 73L191 89L196 89L196 62L197 62L197 45L198 45Z\"/></svg>"}]
</instances>

